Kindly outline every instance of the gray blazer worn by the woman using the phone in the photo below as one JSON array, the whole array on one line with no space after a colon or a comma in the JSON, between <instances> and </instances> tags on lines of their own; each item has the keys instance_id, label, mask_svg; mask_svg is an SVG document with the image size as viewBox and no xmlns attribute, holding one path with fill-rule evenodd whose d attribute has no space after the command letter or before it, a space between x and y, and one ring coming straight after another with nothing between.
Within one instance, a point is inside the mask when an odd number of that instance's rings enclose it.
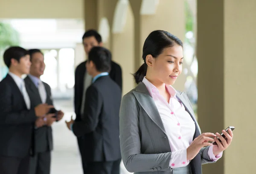
<instances>
[{"instance_id":1,"label":"gray blazer worn by the woman using the phone","mask_svg":"<svg viewBox=\"0 0 256 174\"><path fill-rule=\"evenodd\" d=\"M194 138L201 134L185 92L177 98L195 121ZM172 174L171 148L160 114L144 83L124 95L120 109L120 146L125 168L135 174ZM213 163L204 147L189 163L192 174L202 174L202 164Z\"/></svg>"}]
</instances>

